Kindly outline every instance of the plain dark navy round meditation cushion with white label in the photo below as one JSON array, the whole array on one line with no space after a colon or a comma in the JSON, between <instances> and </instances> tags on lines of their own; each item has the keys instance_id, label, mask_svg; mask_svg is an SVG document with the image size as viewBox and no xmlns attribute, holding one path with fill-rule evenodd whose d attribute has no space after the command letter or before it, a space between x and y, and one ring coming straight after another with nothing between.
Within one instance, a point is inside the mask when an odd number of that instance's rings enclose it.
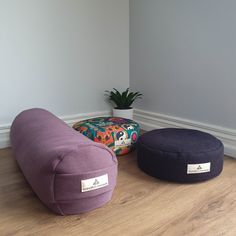
<instances>
[{"instance_id":1,"label":"plain dark navy round meditation cushion with white label","mask_svg":"<svg viewBox=\"0 0 236 236\"><path fill-rule=\"evenodd\" d=\"M139 168L153 177L173 182L211 179L221 173L223 157L220 140L191 129L152 130L137 143Z\"/></svg>"}]
</instances>

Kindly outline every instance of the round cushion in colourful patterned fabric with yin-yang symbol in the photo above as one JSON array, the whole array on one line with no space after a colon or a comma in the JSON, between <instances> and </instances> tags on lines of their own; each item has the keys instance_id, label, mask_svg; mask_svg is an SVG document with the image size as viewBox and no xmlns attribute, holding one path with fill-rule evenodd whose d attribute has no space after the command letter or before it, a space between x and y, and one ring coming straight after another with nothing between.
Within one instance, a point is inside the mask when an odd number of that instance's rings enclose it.
<instances>
[{"instance_id":1,"label":"round cushion in colourful patterned fabric with yin-yang symbol","mask_svg":"<svg viewBox=\"0 0 236 236\"><path fill-rule=\"evenodd\" d=\"M140 126L133 120L120 117L97 117L77 122L73 128L91 140L103 143L116 155L123 155L135 148Z\"/></svg>"}]
</instances>

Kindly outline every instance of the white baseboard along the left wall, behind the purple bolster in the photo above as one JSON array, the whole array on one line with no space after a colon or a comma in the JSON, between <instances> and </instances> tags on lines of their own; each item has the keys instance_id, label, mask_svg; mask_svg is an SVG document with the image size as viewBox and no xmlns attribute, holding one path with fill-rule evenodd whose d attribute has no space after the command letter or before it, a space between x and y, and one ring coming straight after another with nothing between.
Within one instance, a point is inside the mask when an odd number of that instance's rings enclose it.
<instances>
[{"instance_id":1,"label":"white baseboard along the left wall, behind the purple bolster","mask_svg":"<svg viewBox=\"0 0 236 236\"><path fill-rule=\"evenodd\" d=\"M81 113L76 115L69 116L60 116L59 118L67 123L69 126L72 126L75 122L80 120L85 120L93 117L99 116L110 116L111 113L109 111L97 111L90 113ZM0 149L6 148L10 146L10 124L0 125Z\"/></svg>"}]
</instances>

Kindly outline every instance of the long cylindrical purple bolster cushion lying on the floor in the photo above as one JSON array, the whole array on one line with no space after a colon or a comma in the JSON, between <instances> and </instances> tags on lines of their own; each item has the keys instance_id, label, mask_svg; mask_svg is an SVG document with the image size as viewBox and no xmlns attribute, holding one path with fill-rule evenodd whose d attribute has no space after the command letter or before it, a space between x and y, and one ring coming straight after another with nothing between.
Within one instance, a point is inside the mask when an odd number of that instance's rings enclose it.
<instances>
[{"instance_id":1,"label":"long cylindrical purple bolster cushion lying on the floor","mask_svg":"<svg viewBox=\"0 0 236 236\"><path fill-rule=\"evenodd\" d=\"M10 136L25 178L54 212L78 214L111 199L117 159L105 145L91 141L38 108L20 113Z\"/></svg>"}]
</instances>

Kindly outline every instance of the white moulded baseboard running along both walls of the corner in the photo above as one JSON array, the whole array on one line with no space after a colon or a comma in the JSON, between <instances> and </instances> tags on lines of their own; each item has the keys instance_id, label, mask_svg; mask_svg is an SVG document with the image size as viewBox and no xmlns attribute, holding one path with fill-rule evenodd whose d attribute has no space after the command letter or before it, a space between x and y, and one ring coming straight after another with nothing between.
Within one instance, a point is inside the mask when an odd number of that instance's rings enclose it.
<instances>
[{"instance_id":1,"label":"white moulded baseboard running along both walls of the corner","mask_svg":"<svg viewBox=\"0 0 236 236\"><path fill-rule=\"evenodd\" d=\"M110 116L109 111L97 111L75 115L60 116L59 118L72 126L76 121L99 116ZM225 127L205 124L179 117L148 112L140 109L134 110L134 119L141 125L143 130L152 130L167 127L198 129L208 132L219 138L225 147L225 155L236 158L236 130ZM10 146L10 124L0 125L0 149Z\"/></svg>"}]
</instances>

